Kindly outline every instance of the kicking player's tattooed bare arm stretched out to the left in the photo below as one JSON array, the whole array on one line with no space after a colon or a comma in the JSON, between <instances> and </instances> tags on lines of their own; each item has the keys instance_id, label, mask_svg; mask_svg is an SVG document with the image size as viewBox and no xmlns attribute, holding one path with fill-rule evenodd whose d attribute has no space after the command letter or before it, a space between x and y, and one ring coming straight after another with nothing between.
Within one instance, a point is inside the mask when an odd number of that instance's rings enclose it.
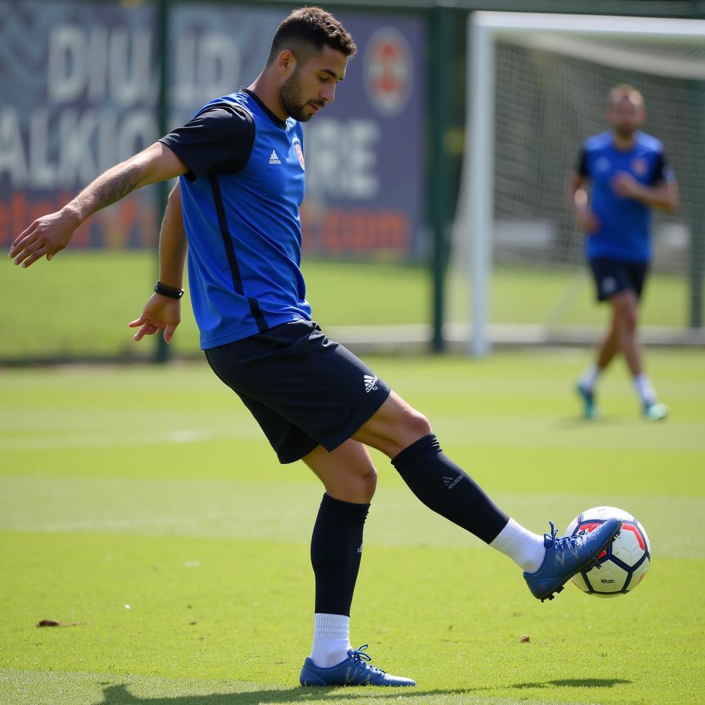
<instances>
[{"instance_id":1,"label":"kicking player's tattooed bare arm stretched out to the left","mask_svg":"<svg viewBox=\"0 0 705 705\"><path fill-rule=\"evenodd\" d=\"M96 211L142 186L188 171L188 167L161 142L155 142L127 161L104 171L60 211L50 213L20 233L10 247L15 264L30 266L40 257L51 259L71 241L83 221Z\"/></svg>"}]
</instances>

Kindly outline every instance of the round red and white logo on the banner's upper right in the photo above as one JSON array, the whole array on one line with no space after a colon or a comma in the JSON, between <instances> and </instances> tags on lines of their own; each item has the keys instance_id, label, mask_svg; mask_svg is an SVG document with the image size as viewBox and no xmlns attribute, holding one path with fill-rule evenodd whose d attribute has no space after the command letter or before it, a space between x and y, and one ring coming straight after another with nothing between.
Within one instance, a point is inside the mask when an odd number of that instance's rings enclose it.
<instances>
[{"instance_id":1,"label":"round red and white logo on the banner's upper right","mask_svg":"<svg viewBox=\"0 0 705 705\"><path fill-rule=\"evenodd\" d=\"M394 27L380 27L364 51L364 87L376 110L386 116L399 114L412 85L411 50Z\"/></svg>"}]
</instances>

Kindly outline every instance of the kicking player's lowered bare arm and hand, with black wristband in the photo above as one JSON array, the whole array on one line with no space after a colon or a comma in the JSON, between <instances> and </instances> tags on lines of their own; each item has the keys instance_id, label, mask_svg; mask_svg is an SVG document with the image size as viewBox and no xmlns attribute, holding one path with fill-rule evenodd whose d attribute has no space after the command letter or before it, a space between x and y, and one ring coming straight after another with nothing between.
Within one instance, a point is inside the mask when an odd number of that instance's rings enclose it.
<instances>
[{"instance_id":1,"label":"kicking player's lowered bare arm and hand, with black wristband","mask_svg":"<svg viewBox=\"0 0 705 705\"><path fill-rule=\"evenodd\" d=\"M188 243L183 228L181 212L181 191L178 183L169 194L164 220L159 232L159 283L175 292L183 286L183 267ZM154 293L149 297L142 314L130 321L130 328L139 328L135 341L164 331L164 341L171 338L181 322L181 300Z\"/></svg>"}]
</instances>

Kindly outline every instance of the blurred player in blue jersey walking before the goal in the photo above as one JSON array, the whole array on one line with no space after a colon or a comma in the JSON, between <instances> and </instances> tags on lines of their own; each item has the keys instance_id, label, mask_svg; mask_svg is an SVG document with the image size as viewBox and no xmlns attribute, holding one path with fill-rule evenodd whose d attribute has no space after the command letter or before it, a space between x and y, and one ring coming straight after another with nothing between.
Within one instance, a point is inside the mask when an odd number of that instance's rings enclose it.
<instances>
[{"instance_id":1,"label":"blurred player in blue jersey walking before the goal","mask_svg":"<svg viewBox=\"0 0 705 705\"><path fill-rule=\"evenodd\" d=\"M622 353L646 419L663 419L637 337L639 299L651 260L651 209L678 209L678 185L663 145L639 130L646 120L644 98L630 85L615 86L606 111L611 130L589 137L568 180L568 201L586 235L587 259L597 299L609 301L612 320L597 359L582 375L577 392L584 416L599 416L595 387L616 353ZM592 184L591 200L584 188Z\"/></svg>"}]
</instances>

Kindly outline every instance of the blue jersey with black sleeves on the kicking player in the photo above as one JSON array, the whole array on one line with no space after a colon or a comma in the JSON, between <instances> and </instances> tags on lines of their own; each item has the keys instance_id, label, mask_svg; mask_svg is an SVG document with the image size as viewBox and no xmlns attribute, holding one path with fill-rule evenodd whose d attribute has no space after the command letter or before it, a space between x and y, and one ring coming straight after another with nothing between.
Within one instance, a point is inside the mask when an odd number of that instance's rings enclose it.
<instances>
[{"instance_id":1,"label":"blue jersey with black sleeves on the kicking player","mask_svg":"<svg viewBox=\"0 0 705 705\"><path fill-rule=\"evenodd\" d=\"M201 348L311 319L300 271L302 128L247 89L162 137L181 176L191 302Z\"/></svg>"}]
</instances>

